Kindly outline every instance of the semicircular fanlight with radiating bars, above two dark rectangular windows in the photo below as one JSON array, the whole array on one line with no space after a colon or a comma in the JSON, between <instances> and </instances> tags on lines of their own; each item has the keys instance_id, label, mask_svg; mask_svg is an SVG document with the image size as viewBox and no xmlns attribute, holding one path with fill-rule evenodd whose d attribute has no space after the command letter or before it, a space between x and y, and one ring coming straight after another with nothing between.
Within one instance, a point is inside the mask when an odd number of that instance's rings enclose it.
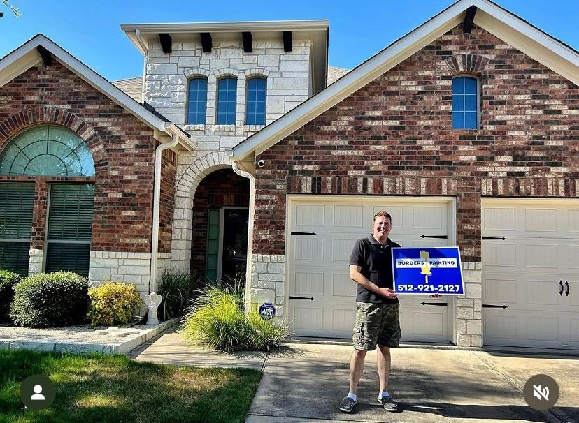
<instances>
[{"instance_id":1,"label":"semicircular fanlight with radiating bars, above two dark rectangular windows","mask_svg":"<svg viewBox=\"0 0 579 423\"><path fill-rule=\"evenodd\" d=\"M3 149L0 175L94 176L94 163L76 133L60 126L35 126Z\"/></svg>"}]
</instances>

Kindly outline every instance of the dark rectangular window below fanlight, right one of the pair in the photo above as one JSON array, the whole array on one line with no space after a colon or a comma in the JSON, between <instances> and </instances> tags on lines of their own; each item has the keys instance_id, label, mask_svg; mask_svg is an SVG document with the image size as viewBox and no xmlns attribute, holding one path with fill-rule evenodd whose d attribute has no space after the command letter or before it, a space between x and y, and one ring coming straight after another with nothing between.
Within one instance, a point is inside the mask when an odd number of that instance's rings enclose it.
<instances>
[{"instance_id":1,"label":"dark rectangular window below fanlight, right one of the pair","mask_svg":"<svg viewBox=\"0 0 579 423\"><path fill-rule=\"evenodd\" d=\"M92 184L52 184L48 203L46 272L88 276L92 233Z\"/></svg>"}]
</instances>

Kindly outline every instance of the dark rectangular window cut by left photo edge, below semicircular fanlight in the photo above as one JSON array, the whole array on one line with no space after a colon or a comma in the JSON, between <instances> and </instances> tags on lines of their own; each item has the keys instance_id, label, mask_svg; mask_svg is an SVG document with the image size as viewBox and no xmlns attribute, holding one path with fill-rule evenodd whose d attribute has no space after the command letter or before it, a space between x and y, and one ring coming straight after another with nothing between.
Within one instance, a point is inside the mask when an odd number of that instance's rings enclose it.
<instances>
[{"instance_id":1,"label":"dark rectangular window cut by left photo edge, below semicircular fanlight","mask_svg":"<svg viewBox=\"0 0 579 423\"><path fill-rule=\"evenodd\" d=\"M28 276L34 184L0 184L0 269Z\"/></svg>"}]
</instances>

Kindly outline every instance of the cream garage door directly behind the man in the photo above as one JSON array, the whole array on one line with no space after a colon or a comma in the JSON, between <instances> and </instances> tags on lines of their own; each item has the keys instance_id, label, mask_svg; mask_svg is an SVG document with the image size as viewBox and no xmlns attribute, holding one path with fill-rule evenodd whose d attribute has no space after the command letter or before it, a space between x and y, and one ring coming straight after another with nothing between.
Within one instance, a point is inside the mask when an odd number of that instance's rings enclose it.
<instances>
[{"instance_id":1,"label":"cream garage door directly behind the man","mask_svg":"<svg viewBox=\"0 0 579 423\"><path fill-rule=\"evenodd\" d=\"M448 246L453 240L442 237L450 238L450 228L454 228L453 205L449 198L290 198L286 281L294 332L352 337L356 283L348 277L348 264L356 240L371 234L373 214L386 210L392 215L390 239L401 246ZM403 296L400 302L403 340L448 341L448 307L420 304L444 304L445 300Z\"/></svg>"}]
</instances>

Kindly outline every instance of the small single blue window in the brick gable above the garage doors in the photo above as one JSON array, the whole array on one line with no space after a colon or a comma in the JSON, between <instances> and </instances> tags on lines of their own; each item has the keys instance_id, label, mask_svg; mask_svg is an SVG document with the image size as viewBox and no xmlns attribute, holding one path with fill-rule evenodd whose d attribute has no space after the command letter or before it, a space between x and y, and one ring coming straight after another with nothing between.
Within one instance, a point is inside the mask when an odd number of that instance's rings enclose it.
<instances>
[{"instance_id":1,"label":"small single blue window in the brick gable above the garage doors","mask_svg":"<svg viewBox=\"0 0 579 423\"><path fill-rule=\"evenodd\" d=\"M452 80L452 129L478 128L478 81L458 76Z\"/></svg>"}]
</instances>

